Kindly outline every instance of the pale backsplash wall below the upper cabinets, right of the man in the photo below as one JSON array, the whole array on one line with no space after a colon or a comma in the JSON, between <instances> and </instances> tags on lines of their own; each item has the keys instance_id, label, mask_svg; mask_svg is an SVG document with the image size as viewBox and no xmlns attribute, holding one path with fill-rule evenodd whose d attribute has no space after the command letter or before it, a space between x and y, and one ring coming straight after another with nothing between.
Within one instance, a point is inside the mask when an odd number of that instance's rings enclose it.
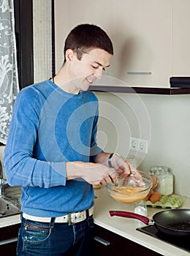
<instances>
[{"instance_id":1,"label":"pale backsplash wall below the upper cabinets, right of the man","mask_svg":"<svg viewBox=\"0 0 190 256\"><path fill-rule=\"evenodd\" d=\"M135 154L137 165L140 170L148 171L155 165L170 167L175 176L175 193L190 197L190 95L135 95L96 93L100 102L98 141L106 151L117 151L119 154ZM122 99L122 100L121 100ZM128 102L139 100L139 110L132 110ZM126 108L123 110L123 101ZM103 105L102 105L102 102ZM106 104L105 104L106 102ZM102 108L109 105L109 108ZM113 110L113 105L118 113ZM129 103L129 105L133 105ZM148 138L145 129L148 124L142 121L142 108L148 112L151 132L148 153L140 155L138 152L129 151L129 136ZM122 115L120 114L122 111ZM132 112L136 118L132 118ZM113 125L105 121L102 116L113 115ZM115 116L114 116L115 115ZM118 118L119 116L119 118ZM123 118L123 129L121 129ZM145 116L147 121L147 116ZM128 122L128 126L126 123ZM139 130L138 126L142 129ZM115 129L113 129L115 126ZM117 133L117 131L119 131Z\"/></svg>"}]
</instances>

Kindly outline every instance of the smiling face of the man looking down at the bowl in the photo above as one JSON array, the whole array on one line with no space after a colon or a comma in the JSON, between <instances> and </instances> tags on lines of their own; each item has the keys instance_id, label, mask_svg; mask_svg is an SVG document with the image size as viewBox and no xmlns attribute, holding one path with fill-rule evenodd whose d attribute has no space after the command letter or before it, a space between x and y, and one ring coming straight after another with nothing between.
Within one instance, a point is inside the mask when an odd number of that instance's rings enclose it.
<instances>
[{"instance_id":1,"label":"smiling face of the man looking down at the bowl","mask_svg":"<svg viewBox=\"0 0 190 256\"><path fill-rule=\"evenodd\" d=\"M77 54L73 53L69 73L72 79L77 81L73 83L73 86L76 86L75 89L86 91L94 80L101 79L104 69L110 66L111 56L110 53L99 48L84 53L81 60L78 60Z\"/></svg>"}]
</instances>

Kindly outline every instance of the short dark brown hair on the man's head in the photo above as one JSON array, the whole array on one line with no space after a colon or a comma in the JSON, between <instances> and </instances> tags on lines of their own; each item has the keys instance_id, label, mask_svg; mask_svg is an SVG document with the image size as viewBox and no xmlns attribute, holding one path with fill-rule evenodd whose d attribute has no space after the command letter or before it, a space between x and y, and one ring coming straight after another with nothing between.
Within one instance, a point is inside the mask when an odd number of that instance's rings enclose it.
<instances>
[{"instance_id":1,"label":"short dark brown hair on the man's head","mask_svg":"<svg viewBox=\"0 0 190 256\"><path fill-rule=\"evenodd\" d=\"M99 48L113 55L113 44L110 37L99 26L92 24L81 24L76 26L66 37L64 45L64 56L66 50L72 49L77 53L77 59L81 59L83 53ZM64 59L64 62L66 59Z\"/></svg>"}]
</instances>

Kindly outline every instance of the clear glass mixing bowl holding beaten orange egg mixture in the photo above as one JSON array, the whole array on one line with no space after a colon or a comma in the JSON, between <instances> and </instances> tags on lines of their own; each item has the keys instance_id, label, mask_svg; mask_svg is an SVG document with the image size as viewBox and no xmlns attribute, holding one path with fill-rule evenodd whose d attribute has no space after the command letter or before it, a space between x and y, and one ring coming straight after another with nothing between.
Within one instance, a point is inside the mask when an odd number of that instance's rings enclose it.
<instances>
[{"instance_id":1,"label":"clear glass mixing bowl holding beaten orange egg mixture","mask_svg":"<svg viewBox=\"0 0 190 256\"><path fill-rule=\"evenodd\" d=\"M130 174L126 178L118 179L117 184L107 184L110 196L121 203L135 203L143 200L151 190L153 177L140 170L138 173L141 178Z\"/></svg>"}]
</instances>

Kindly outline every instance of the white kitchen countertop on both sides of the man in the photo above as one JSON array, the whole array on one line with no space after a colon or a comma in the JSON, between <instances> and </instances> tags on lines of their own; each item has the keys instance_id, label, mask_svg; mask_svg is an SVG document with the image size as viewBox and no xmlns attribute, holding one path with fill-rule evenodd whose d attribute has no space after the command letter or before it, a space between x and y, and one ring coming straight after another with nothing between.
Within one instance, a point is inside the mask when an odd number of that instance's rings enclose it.
<instances>
[{"instance_id":1,"label":"white kitchen countertop on both sides of the man","mask_svg":"<svg viewBox=\"0 0 190 256\"><path fill-rule=\"evenodd\" d=\"M164 256L187 256L190 253L178 249L175 246L160 241L159 239L148 236L140 231L137 227L145 226L138 219L127 219L123 217L110 217L110 210L117 211L134 211L133 204L119 203L110 197L106 188L95 189L96 199L94 200L94 223L107 230L112 231L124 238L134 241L137 244L147 247ZM190 198L184 197L184 201L180 208L190 208ZM162 211L161 208L148 207L148 218L151 219L153 214ZM15 225L20 222L20 214L12 217L4 217L0 219L0 227Z\"/></svg>"}]
</instances>

